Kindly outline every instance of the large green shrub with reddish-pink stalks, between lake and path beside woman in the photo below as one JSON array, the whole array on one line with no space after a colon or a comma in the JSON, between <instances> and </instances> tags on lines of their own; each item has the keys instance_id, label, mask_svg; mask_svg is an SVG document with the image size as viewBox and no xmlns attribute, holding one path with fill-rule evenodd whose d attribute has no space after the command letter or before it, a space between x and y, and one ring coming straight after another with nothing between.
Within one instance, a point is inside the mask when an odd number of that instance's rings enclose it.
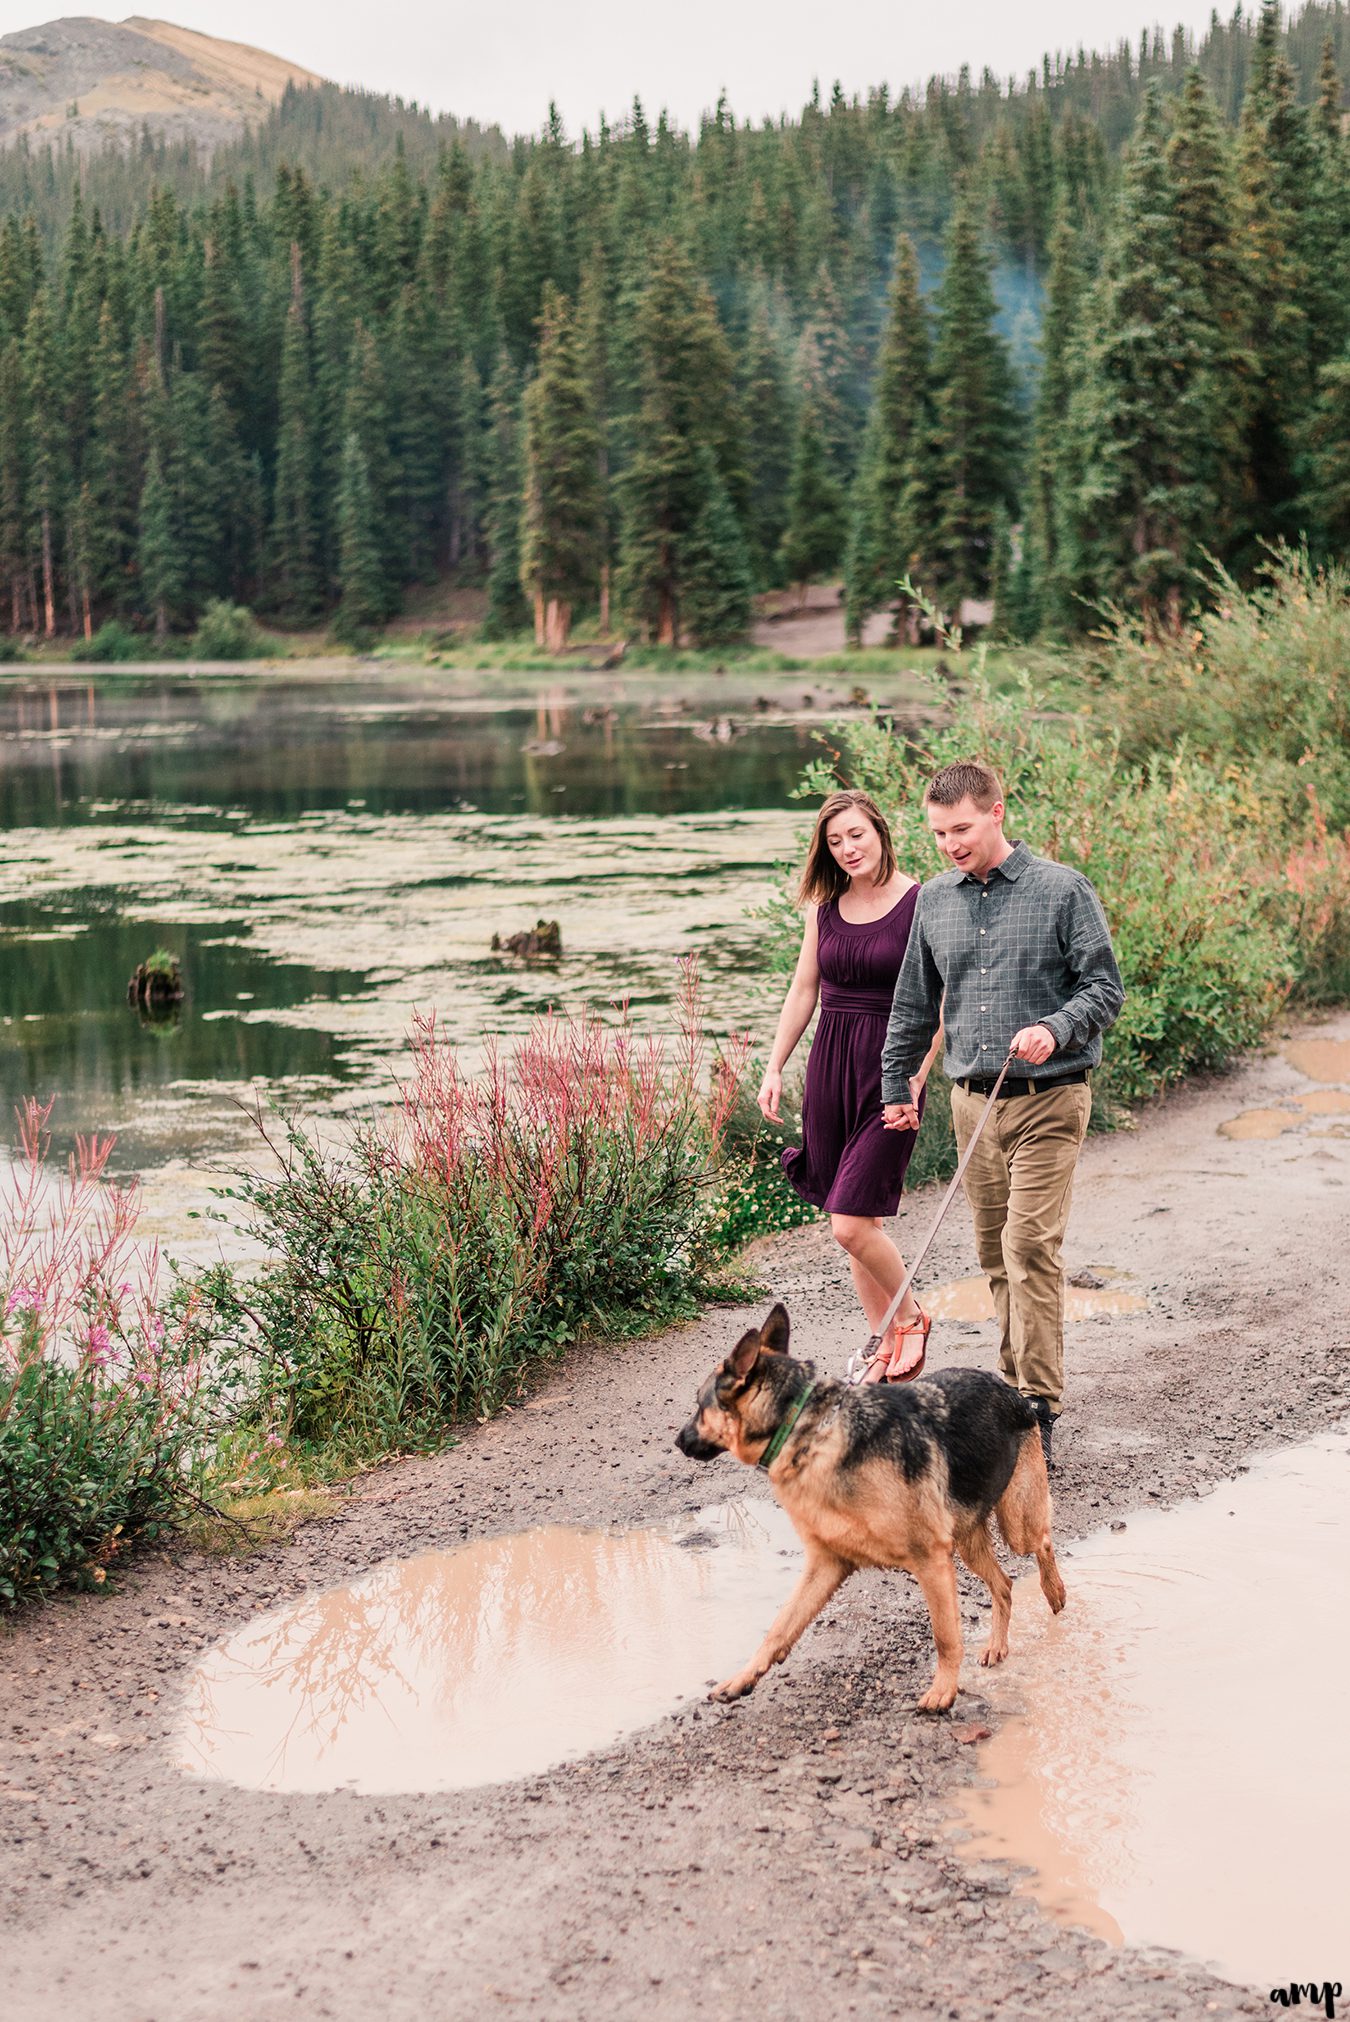
<instances>
[{"instance_id":1,"label":"large green shrub with reddish-pink stalks, between lake and path beside woman","mask_svg":"<svg viewBox=\"0 0 1350 2022\"><path fill-rule=\"evenodd\" d=\"M594 1019L540 1021L481 1078L424 1021L412 1060L344 1146L259 1116L277 1169L226 1197L269 1262L198 1286L245 1415L344 1462L443 1438L582 1335L695 1310L719 1256L734 1064L709 1102L693 1039Z\"/></svg>"}]
</instances>

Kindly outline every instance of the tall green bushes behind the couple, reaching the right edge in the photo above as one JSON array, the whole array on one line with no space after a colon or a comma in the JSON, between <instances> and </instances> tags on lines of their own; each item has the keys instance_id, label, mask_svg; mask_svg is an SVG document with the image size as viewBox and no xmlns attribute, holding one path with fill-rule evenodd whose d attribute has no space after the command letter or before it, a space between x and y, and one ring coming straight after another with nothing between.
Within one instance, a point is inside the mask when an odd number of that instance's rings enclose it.
<instances>
[{"instance_id":1,"label":"tall green bushes behind the couple, reaching the right edge","mask_svg":"<svg viewBox=\"0 0 1350 2022\"><path fill-rule=\"evenodd\" d=\"M1031 673L998 687L980 651L962 657L932 728L849 724L804 780L808 803L871 793L926 878L926 780L958 758L1000 770L1008 833L1085 871L1112 920L1128 997L1105 1037L1107 1122L1257 1045L1285 1005L1350 995L1350 576L1283 552L1255 590L1217 588L1180 637L1105 633L1071 690ZM790 884L768 914L784 973ZM942 1169L936 1126L926 1167Z\"/></svg>"}]
</instances>

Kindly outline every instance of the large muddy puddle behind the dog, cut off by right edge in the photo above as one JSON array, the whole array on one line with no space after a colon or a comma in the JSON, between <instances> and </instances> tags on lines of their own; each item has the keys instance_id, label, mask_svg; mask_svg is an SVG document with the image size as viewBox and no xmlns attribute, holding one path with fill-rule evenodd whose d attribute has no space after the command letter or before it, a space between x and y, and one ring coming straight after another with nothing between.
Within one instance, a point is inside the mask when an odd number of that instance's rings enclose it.
<instances>
[{"instance_id":1,"label":"large muddy puddle behind the dog, cut off by right edge","mask_svg":"<svg viewBox=\"0 0 1350 2022\"><path fill-rule=\"evenodd\" d=\"M1263 1988L1344 1980L1350 1428L1198 1502L1061 1551L1051 1622L1023 1579L1010 1711L966 1791L972 1860L1114 1943Z\"/></svg>"}]
</instances>

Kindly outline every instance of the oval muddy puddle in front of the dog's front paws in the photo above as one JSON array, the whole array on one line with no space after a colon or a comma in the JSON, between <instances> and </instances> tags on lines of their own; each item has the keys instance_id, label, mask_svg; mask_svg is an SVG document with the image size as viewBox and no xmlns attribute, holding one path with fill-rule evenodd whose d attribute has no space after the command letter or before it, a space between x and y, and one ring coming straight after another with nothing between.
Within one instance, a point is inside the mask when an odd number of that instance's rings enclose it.
<instances>
[{"instance_id":1,"label":"oval muddy puddle in front of the dog's front paws","mask_svg":"<svg viewBox=\"0 0 1350 2022\"><path fill-rule=\"evenodd\" d=\"M390 1561L210 1650L178 1759L283 1791L534 1775L738 1668L798 1567L788 1519L750 1498L645 1531L548 1527Z\"/></svg>"}]
</instances>

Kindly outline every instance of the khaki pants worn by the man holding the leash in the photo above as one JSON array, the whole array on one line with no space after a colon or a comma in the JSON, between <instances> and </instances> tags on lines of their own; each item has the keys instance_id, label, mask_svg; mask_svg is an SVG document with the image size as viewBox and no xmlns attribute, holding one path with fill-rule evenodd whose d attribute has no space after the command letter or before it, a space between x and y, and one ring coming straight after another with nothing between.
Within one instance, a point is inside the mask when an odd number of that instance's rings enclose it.
<instances>
[{"instance_id":1,"label":"khaki pants worn by the man holding the leash","mask_svg":"<svg viewBox=\"0 0 1350 2022\"><path fill-rule=\"evenodd\" d=\"M984 1106L984 1096L952 1088L962 1153ZM992 1108L964 1185L980 1270L994 1294L998 1365L1025 1397L1047 1397L1057 1413L1065 1383L1063 1239L1091 1090L1071 1082L1000 1096Z\"/></svg>"}]
</instances>

